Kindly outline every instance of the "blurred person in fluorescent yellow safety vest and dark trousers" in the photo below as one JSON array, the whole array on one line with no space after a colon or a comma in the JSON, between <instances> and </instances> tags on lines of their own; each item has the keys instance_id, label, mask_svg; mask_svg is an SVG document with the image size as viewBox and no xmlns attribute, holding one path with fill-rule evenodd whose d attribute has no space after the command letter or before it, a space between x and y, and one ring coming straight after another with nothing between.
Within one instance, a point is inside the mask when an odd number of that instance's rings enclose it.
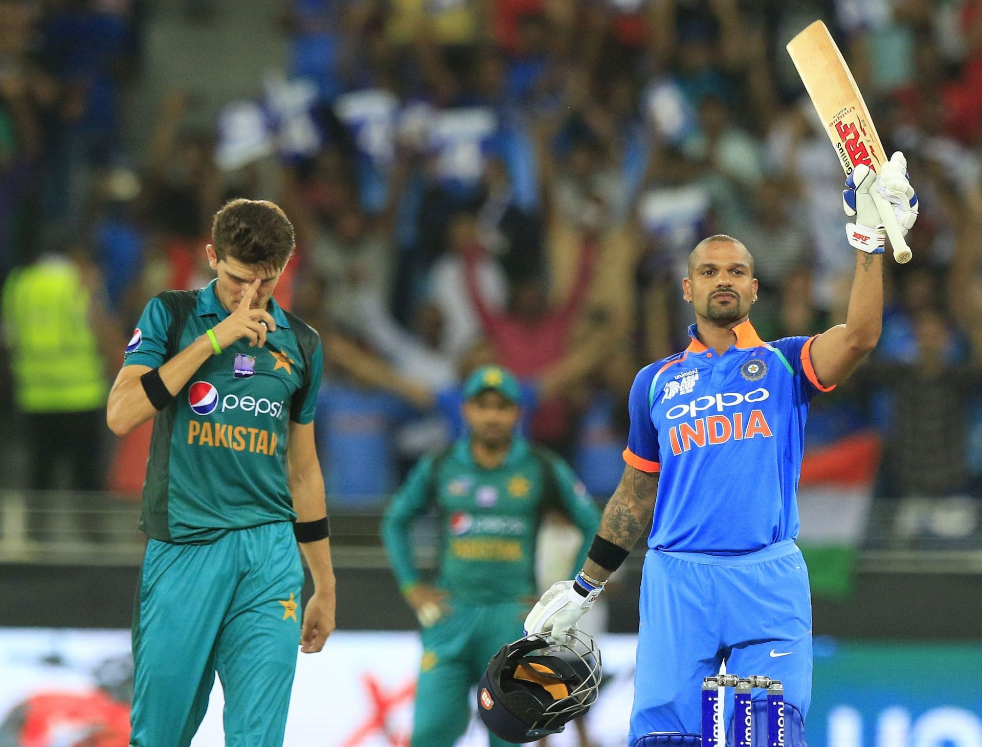
<instances>
[{"instance_id":1,"label":"blurred person in fluorescent yellow safety vest and dark trousers","mask_svg":"<svg viewBox=\"0 0 982 747\"><path fill-rule=\"evenodd\" d=\"M102 301L98 270L72 251L45 253L15 269L2 293L2 333L23 413L27 487L102 490L109 392L106 355L117 337Z\"/></svg>"}]
</instances>

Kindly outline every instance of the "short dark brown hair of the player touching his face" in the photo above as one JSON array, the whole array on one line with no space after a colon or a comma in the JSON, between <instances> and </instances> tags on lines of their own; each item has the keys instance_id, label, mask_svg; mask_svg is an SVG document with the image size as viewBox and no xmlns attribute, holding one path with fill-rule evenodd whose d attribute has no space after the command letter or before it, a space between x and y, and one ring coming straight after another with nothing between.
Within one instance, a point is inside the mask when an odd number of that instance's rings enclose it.
<instances>
[{"instance_id":1,"label":"short dark brown hair of the player touching his face","mask_svg":"<svg viewBox=\"0 0 982 747\"><path fill-rule=\"evenodd\" d=\"M278 271L294 253L294 226L279 205L240 197L215 213L211 243L220 260Z\"/></svg>"}]
</instances>

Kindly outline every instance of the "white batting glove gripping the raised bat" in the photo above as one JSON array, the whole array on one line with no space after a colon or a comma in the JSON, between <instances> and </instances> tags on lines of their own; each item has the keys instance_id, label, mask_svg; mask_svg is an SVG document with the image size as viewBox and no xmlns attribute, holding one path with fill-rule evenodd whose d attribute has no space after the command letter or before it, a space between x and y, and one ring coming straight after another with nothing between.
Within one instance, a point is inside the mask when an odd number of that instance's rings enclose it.
<instances>
[{"instance_id":1,"label":"white batting glove gripping the raised bat","mask_svg":"<svg viewBox=\"0 0 982 747\"><path fill-rule=\"evenodd\" d=\"M898 151L883 165L882 175L860 164L846 178L843 190L843 209L855 223L846 224L849 243L870 254L883 252L887 232L873 202L873 191L882 194L894 208L894 215L905 236L917 220L917 195L906 177L907 162Z\"/></svg>"}]
</instances>

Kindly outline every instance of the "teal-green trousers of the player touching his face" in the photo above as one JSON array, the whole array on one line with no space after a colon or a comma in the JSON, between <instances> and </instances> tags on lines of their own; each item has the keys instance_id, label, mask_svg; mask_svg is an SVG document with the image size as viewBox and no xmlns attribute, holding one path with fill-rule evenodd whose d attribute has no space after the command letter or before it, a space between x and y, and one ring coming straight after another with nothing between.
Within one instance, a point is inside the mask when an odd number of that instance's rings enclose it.
<instances>
[{"instance_id":1,"label":"teal-green trousers of the player touching his face","mask_svg":"<svg viewBox=\"0 0 982 747\"><path fill-rule=\"evenodd\" d=\"M226 747L281 747L303 566L289 521L210 544L150 540L133 623L132 747L186 747L218 673Z\"/></svg>"}]
</instances>

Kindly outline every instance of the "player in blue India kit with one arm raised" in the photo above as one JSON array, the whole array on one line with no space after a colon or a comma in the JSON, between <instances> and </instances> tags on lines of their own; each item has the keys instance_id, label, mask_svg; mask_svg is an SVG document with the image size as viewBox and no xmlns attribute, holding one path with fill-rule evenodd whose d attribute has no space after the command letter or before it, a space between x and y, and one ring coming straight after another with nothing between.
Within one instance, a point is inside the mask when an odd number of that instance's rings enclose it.
<instances>
[{"instance_id":1,"label":"player in blue India kit with one arm raised","mask_svg":"<svg viewBox=\"0 0 982 747\"><path fill-rule=\"evenodd\" d=\"M692 250L682 280L695 310L691 342L637 374L627 467L588 560L525 619L529 633L562 640L652 519L630 747L698 744L700 684L723 662L741 676L784 683L786 744L805 745L811 599L794 544L805 418L811 398L846 379L880 337L885 231L872 194L890 201L904 233L917 217L901 153L879 176L857 167L846 187L846 214L855 220L846 237L859 252L846 324L821 335L765 343L749 320L757 281L747 247L719 235ZM759 696L754 720L762 724Z\"/></svg>"}]
</instances>

